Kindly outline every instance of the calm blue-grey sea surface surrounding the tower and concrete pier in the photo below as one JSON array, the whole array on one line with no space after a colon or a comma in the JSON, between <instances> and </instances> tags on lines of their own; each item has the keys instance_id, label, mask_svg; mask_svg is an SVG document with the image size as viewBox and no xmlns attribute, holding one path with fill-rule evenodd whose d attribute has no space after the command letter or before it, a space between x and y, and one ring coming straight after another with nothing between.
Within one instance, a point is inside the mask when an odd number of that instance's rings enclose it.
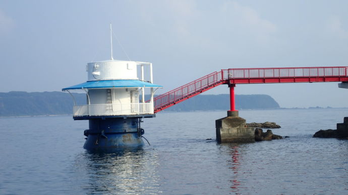
<instances>
[{"instance_id":1,"label":"calm blue-grey sea surface surrounding the tower and concrete pier","mask_svg":"<svg viewBox=\"0 0 348 195\"><path fill-rule=\"evenodd\" d=\"M0 118L0 194L348 194L348 140L312 138L348 109L240 111L290 136L240 145L216 143L225 116L159 113L142 123L151 146L112 153L85 151L72 116Z\"/></svg>"}]
</instances>

